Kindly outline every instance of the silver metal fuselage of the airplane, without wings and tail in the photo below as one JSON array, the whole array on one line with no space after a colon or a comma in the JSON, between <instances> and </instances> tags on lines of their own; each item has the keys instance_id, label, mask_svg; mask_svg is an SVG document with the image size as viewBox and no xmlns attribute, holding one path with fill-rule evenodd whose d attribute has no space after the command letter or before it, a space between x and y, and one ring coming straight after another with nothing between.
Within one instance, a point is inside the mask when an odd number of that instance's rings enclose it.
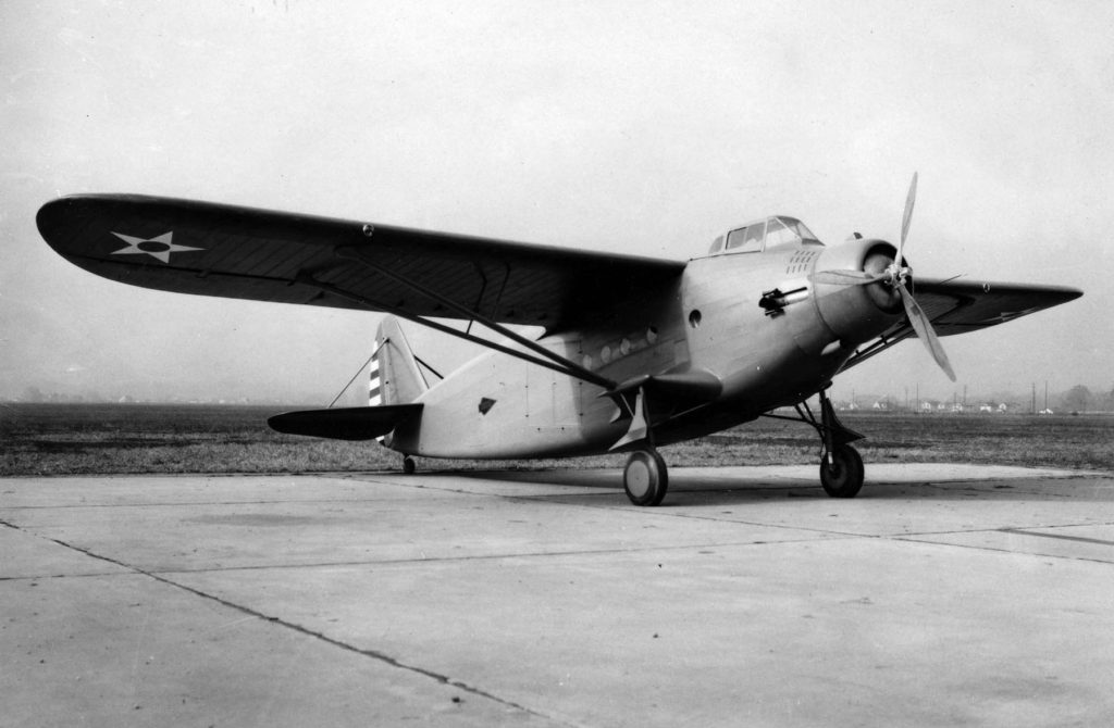
<instances>
[{"instance_id":1,"label":"silver metal fuselage of the airplane, without wings and tail","mask_svg":"<svg viewBox=\"0 0 1114 728\"><path fill-rule=\"evenodd\" d=\"M812 396L858 344L899 319L880 284L871 291L808 278L818 266L859 270L869 255L886 253L892 257L885 242L850 240L695 258L668 288L539 343L616 382L713 375L719 397L652 420L658 445L709 434ZM781 295L771 312L760 301L774 289ZM418 400L421 421L398 429L389 446L436 458L604 453L629 424L604 395L594 384L488 352L427 391ZM481 407L483 400L494 404Z\"/></svg>"}]
</instances>

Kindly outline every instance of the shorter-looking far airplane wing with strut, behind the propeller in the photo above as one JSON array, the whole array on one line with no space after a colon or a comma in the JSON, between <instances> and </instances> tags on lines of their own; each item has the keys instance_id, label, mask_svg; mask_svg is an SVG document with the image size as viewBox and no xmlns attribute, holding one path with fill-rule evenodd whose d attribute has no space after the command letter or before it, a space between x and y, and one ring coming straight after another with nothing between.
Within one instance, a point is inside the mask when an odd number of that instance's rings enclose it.
<instances>
[{"instance_id":1,"label":"shorter-looking far airplane wing with strut, behind the propeller","mask_svg":"<svg viewBox=\"0 0 1114 728\"><path fill-rule=\"evenodd\" d=\"M911 288L939 336L1004 324L1083 295L1082 291L1066 286L922 277L915 278ZM895 324L877 341L860 348L843 365L843 371L916 335L908 321Z\"/></svg>"}]
</instances>

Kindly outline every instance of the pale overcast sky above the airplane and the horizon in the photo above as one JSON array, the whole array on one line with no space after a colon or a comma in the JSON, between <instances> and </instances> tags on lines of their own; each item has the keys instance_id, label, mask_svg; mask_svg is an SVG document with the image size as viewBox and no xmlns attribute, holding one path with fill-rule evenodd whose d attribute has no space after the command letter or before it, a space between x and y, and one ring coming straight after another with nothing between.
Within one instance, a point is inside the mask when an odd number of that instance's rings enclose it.
<instances>
[{"instance_id":1,"label":"pale overcast sky above the airplane and the horizon","mask_svg":"<svg viewBox=\"0 0 1114 728\"><path fill-rule=\"evenodd\" d=\"M71 266L35 227L59 195L684 259L774 213L892 238L913 170L918 273L1085 296L945 338L958 385L907 342L837 392L1107 391L1112 32L1102 1L3 2L0 397L326 404L370 354L374 314Z\"/></svg>"}]
</instances>

